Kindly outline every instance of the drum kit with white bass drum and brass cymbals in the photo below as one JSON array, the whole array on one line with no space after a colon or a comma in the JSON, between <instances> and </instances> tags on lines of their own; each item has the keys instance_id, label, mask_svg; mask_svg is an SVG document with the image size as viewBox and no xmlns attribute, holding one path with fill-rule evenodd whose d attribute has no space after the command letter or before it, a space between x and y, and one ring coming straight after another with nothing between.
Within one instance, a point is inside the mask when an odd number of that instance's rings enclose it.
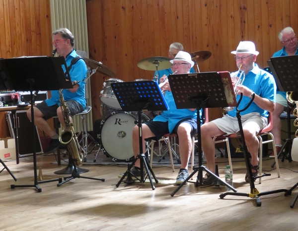
<instances>
[{"instance_id":1,"label":"drum kit with white bass drum and brass cymbals","mask_svg":"<svg viewBox=\"0 0 298 231\"><path fill-rule=\"evenodd\" d=\"M199 51L190 53L195 65L199 71L198 63L201 63L211 56L211 52ZM114 161L132 160L134 157L132 146L132 132L137 120L136 112L123 112L120 104L111 87L112 83L124 82L121 79L116 79L116 74L101 62L94 61L89 58L84 58L86 65L91 69L92 73L96 71L112 77L103 83L103 88L100 91L101 121L99 128L100 147L104 153L111 157ZM170 58L167 57L149 57L138 62L138 67L144 70L158 71L171 67ZM147 79L136 79L135 81L143 81ZM150 113L150 112L149 112ZM154 117L154 116L153 116ZM142 121L149 121L151 116L142 113ZM96 159L96 157L95 157ZM95 162L95 160L94 160Z\"/></svg>"}]
</instances>

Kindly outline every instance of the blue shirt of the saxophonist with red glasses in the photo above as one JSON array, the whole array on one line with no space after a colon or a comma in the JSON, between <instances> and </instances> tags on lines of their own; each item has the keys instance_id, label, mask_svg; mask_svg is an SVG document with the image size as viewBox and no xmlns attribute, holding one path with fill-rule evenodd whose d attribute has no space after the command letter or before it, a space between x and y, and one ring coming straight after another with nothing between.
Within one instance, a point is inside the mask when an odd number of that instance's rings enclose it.
<instances>
[{"instance_id":1,"label":"blue shirt of the saxophonist with red glasses","mask_svg":"<svg viewBox=\"0 0 298 231\"><path fill-rule=\"evenodd\" d=\"M67 56L65 59L67 66L71 65L71 61L73 58L77 57L75 50L71 54ZM63 71L65 71L65 66L62 65ZM70 69L69 71L72 81L79 81L78 85L79 88L76 92L72 93L71 91L67 89L63 89L63 98L65 101L67 100L75 100L77 101L83 108L86 106L86 99L85 99L85 81L84 79L87 76L87 67L86 63L83 59L79 59ZM45 102L47 105L53 106L55 104L58 104L60 106L60 94L59 90L51 91L52 97Z\"/></svg>"}]
</instances>

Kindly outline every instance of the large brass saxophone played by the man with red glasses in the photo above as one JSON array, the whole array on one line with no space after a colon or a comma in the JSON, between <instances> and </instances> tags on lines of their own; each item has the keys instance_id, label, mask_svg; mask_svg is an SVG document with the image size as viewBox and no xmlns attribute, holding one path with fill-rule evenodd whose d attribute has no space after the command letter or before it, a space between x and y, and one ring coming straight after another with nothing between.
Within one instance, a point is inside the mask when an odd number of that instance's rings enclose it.
<instances>
[{"instance_id":1,"label":"large brass saxophone played by the man with red glasses","mask_svg":"<svg viewBox=\"0 0 298 231\"><path fill-rule=\"evenodd\" d=\"M80 145L77 141L75 132L74 132L74 123L71 121L71 114L69 108L63 98L62 94L63 89L59 90L60 94L60 108L62 111L63 119L65 122L66 129L62 131L59 136L59 141L62 144L68 145L67 150L69 155L71 155L75 166L81 166L83 164L83 153L80 148Z\"/></svg>"}]
</instances>

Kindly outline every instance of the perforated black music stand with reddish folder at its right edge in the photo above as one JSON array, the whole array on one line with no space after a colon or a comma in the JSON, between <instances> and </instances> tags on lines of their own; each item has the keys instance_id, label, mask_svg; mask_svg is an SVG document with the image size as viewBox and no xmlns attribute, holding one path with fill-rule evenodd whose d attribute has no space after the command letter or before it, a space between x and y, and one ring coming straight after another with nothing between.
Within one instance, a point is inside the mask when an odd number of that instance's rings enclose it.
<instances>
[{"instance_id":1,"label":"perforated black music stand with reddish folder at its right edge","mask_svg":"<svg viewBox=\"0 0 298 231\"><path fill-rule=\"evenodd\" d=\"M197 172L196 186L203 185L203 170L223 185L236 192L237 190L223 181L219 176L203 166L201 123L199 111L202 108L224 108L236 105L230 75L228 72L202 72L193 74L169 75L169 84L175 100L177 109L197 108L197 130L198 130L198 155L199 166L193 168L193 172L172 193L175 193ZM227 103L229 102L229 103Z\"/></svg>"}]
</instances>

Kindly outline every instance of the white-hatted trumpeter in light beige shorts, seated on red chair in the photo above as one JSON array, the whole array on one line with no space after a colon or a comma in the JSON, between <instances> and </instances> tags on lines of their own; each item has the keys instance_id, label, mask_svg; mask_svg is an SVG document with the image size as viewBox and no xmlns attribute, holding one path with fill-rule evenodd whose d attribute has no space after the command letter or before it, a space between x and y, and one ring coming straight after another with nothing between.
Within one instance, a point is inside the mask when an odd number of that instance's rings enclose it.
<instances>
[{"instance_id":1,"label":"white-hatted trumpeter in light beige shorts, seated on red chair","mask_svg":"<svg viewBox=\"0 0 298 231\"><path fill-rule=\"evenodd\" d=\"M275 108L276 84L273 76L268 72L260 69L255 63L259 52L256 51L255 45L250 41L242 41L239 43L237 50L231 52L235 55L236 65L245 73L245 79L242 85L236 88L236 99L243 94L243 99L239 105L239 109L245 108L251 100L254 93L255 98L247 110L241 112L241 121L245 143L251 154L251 169L253 176L259 173L259 140L256 134L267 125L267 117L269 112L273 112ZM236 76L237 72L231 73ZM213 137L220 135L229 135L239 131L239 124L236 117L236 108L229 111L224 117L205 123L201 127L202 149L205 154L208 169L215 173L215 146ZM245 181L248 182L249 175L246 173ZM204 181L213 182L213 176L206 174Z\"/></svg>"}]
</instances>

